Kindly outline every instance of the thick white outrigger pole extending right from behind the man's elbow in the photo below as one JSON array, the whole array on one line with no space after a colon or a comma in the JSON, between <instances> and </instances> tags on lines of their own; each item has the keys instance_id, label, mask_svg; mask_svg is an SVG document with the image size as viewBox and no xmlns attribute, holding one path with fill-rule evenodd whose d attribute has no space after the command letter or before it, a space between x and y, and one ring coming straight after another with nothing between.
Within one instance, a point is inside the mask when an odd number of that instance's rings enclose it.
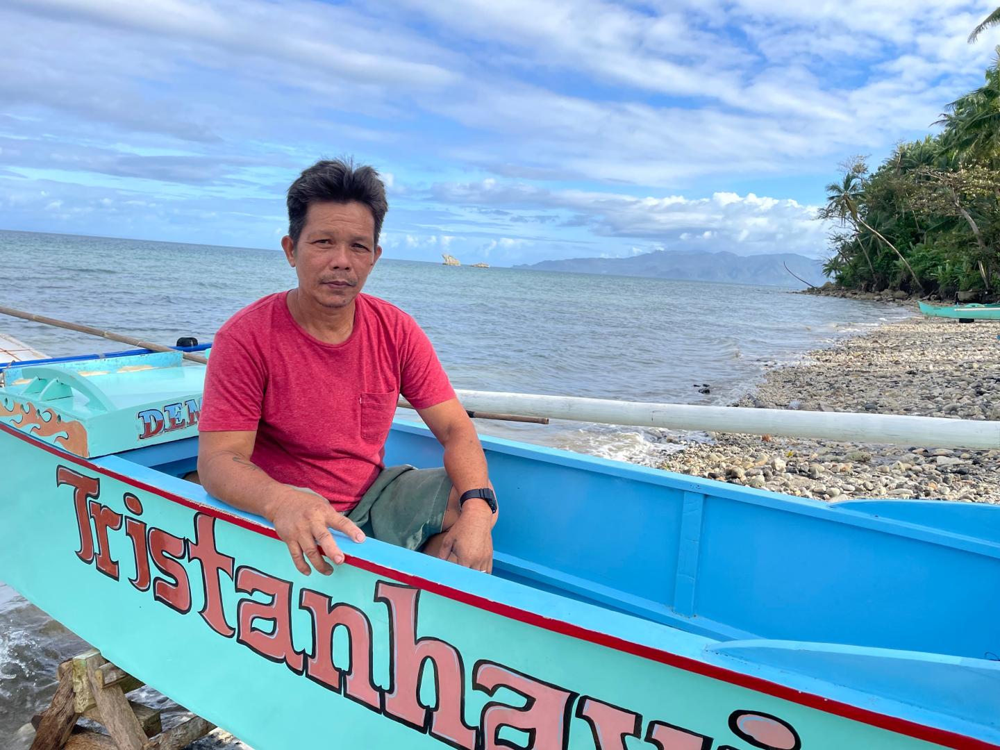
<instances>
[{"instance_id":1,"label":"thick white outrigger pole extending right from behind the man's elbow","mask_svg":"<svg viewBox=\"0 0 1000 750\"><path fill-rule=\"evenodd\" d=\"M457 394L466 409L514 412L578 422L783 435L845 443L890 443L979 450L1000 448L1000 422L992 421L639 403L488 391L457 391Z\"/></svg>"}]
</instances>

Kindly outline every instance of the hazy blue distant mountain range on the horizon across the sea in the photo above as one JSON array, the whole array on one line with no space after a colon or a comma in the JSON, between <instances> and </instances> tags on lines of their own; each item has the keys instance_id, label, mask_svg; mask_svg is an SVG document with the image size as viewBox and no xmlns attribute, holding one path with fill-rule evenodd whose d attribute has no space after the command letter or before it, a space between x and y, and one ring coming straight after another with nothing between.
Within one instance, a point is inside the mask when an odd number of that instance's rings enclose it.
<instances>
[{"instance_id":1,"label":"hazy blue distant mountain range on the horizon across the sea","mask_svg":"<svg viewBox=\"0 0 1000 750\"><path fill-rule=\"evenodd\" d=\"M736 255L727 251L707 253L657 250L643 255L633 255L630 258L543 260L541 263L519 265L514 268L803 288L805 285L789 274L784 269L783 263L788 265L792 273L801 276L810 284L821 285L827 281L823 276L823 261L795 253Z\"/></svg>"}]
</instances>

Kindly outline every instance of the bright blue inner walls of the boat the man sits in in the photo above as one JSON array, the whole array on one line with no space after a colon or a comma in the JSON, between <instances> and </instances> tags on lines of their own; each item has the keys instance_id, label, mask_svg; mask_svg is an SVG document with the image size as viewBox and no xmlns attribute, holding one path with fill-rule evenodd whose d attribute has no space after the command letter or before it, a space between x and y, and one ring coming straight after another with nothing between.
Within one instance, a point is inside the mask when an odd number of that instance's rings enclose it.
<instances>
[{"instance_id":1,"label":"bright blue inner walls of the boat the man sits in","mask_svg":"<svg viewBox=\"0 0 1000 750\"><path fill-rule=\"evenodd\" d=\"M995 508L826 504L483 442L502 508L497 576L720 641L1000 654ZM183 478L197 438L118 456ZM441 448L397 421L386 463L440 466Z\"/></svg>"}]
</instances>

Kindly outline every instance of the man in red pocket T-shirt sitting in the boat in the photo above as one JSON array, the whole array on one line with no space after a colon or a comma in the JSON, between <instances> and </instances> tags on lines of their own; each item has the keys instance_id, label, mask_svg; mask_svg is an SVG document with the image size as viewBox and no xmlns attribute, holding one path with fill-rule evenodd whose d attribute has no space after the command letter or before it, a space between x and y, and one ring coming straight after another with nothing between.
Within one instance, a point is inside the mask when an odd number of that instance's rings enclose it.
<instances>
[{"instance_id":1,"label":"man in red pocket T-shirt sitting in the boat","mask_svg":"<svg viewBox=\"0 0 1000 750\"><path fill-rule=\"evenodd\" d=\"M344 560L330 529L490 572L496 498L475 428L427 336L361 294L388 210L371 167L320 161L288 189L281 241L298 286L219 330L205 377L198 475L268 519L305 575ZM383 466L399 394L444 446L444 467Z\"/></svg>"}]
</instances>

